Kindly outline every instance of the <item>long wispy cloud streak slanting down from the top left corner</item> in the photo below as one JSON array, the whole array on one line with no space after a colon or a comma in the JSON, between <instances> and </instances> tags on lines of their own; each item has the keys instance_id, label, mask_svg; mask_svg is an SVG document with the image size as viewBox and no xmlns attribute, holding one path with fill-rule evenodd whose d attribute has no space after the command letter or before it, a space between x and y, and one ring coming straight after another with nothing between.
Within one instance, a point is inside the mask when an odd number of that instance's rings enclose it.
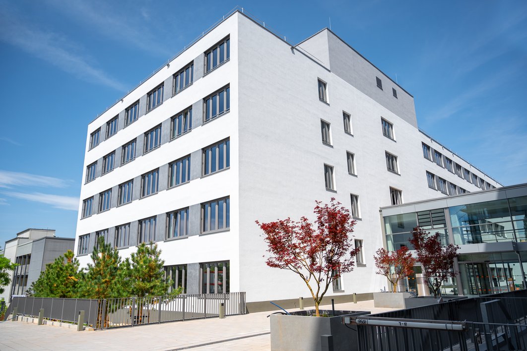
<instances>
[{"instance_id":1,"label":"long wispy cloud streak slanting down from the top left corner","mask_svg":"<svg viewBox=\"0 0 527 351\"><path fill-rule=\"evenodd\" d=\"M65 37L23 23L14 11L9 11L6 4L1 5L4 5L3 11L0 11L1 41L43 59L83 81L126 91L125 85L87 62L84 58L86 55L74 53L75 45Z\"/></svg>"}]
</instances>

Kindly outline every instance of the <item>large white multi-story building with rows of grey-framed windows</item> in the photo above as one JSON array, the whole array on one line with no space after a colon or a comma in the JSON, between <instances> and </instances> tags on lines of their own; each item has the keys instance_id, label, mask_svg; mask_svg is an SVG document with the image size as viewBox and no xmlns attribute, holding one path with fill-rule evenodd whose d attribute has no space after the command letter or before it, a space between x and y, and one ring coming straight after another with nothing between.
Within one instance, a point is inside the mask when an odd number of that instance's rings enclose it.
<instances>
[{"instance_id":1,"label":"large white multi-story building with rows of grey-framed windows","mask_svg":"<svg viewBox=\"0 0 527 351\"><path fill-rule=\"evenodd\" d=\"M420 132L413 97L333 32L291 45L236 11L89 124L76 248L85 265L99 235L124 257L152 240L187 293L298 298L255 220L335 197L363 249L328 295L370 293L380 206L499 186Z\"/></svg>"}]
</instances>

